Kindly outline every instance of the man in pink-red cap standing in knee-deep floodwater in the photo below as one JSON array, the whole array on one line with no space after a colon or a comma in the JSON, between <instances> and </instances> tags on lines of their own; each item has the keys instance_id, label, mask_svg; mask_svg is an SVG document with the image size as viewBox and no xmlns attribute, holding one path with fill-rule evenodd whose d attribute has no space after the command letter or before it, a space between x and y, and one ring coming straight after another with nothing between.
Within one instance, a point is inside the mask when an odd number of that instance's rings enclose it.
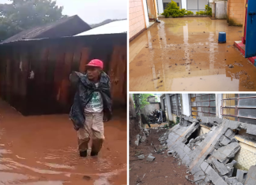
<instances>
[{"instance_id":1,"label":"man in pink-red cap standing in knee-deep floodwater","mask_svg":"<svg viewBox=\"0 0 256 185\"><path fill-rule=\"evenodd\" d=\"M104 142L104 122L111 120L111 85L103 68L103 61L94 59L86 65L85 75L80 72L70 75L70 82L77 87L70 119L77 131L81 157L87 157L90 139L91 156L98 155Z\"/></svg>"}]
</instances>

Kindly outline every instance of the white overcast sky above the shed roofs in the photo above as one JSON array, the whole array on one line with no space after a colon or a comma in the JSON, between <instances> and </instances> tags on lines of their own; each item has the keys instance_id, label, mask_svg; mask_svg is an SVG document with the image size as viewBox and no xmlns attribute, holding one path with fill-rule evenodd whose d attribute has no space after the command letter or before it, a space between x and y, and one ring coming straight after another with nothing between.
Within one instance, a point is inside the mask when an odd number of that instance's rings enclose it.
<instances>
[{"instance_id":1,"label":"white overcast sky above the shed roofs","mask_svg":"<svg viewBox=\"0 0 256 185\"><path fill-rule=\"evenodd\" d=\"M9 2L0 0L0 3ZM106 19L126 19L128 0L57 0L64 6L63 14L78 15L88 24L100 23Z\"/></svg>"}]
</instances>

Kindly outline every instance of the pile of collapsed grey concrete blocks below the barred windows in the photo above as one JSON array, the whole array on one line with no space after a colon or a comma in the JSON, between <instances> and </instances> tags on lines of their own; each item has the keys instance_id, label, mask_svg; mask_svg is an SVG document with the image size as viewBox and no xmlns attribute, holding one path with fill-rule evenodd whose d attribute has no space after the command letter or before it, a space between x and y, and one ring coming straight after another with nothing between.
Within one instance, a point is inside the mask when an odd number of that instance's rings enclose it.
<instances>
[{"instance_id":1,"label":"pile of collapsed grey concrete blocks below the barred windows","mask_svg":"<svg viewBox=\"0 0 256 185\"><path fill-rule=\"evenodd\" d=\"M200 124L211 127L210 131L190 139ZM171 128L168 139L162 137L160 142L167 142L168 155L179 158L180 164L189 168L196 184L252 185L256 184L256 166L251 166L248 172L238 169L233 176L236 164L233 157L241 148L235 130L241 128L256 135L256 125L215 117L182 116L180 123Z\"/></svg>"}]
</instances>

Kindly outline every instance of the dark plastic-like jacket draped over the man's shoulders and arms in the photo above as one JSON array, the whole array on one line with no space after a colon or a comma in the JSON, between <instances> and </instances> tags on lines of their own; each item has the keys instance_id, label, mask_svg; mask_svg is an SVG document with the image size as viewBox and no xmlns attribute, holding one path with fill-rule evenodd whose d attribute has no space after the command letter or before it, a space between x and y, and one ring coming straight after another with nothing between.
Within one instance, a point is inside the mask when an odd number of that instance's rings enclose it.
<instances>
[{"instance_id":1,"label":"dark plastic-like jacket draped over the man's shoulders and arms","mask_svg":"<svg viewBox=\"0 0 256 185\"><path fill-rule=\"evenodd\" d=\"M109 77L105 72L100 74L99 87L97 88L95 83L88 80L88 77L81 72L73 72L70 75L70 82L77 87L76 94L73 99L73 105L70 110L70 120L73 121L73 127L75 130L84 128L85 123L85 106L92 99L94 91L99 91L104 103L104 117L107 120L111 120L111 83Z\"/></svg>"}]
</instances>

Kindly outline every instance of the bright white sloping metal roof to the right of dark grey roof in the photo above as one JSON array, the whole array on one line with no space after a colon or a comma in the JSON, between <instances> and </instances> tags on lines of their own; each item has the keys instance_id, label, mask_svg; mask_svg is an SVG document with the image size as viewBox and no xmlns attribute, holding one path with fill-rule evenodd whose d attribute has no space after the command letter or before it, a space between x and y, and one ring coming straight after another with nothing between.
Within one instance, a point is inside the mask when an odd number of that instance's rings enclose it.
<instances>
[{"instance_id":1,"label":"bright white sloping metal roof to the right of dark grey roof","mask_svg":"<svg viewBox=\"0 0 256 185\"><path fill-rule=\"evenodd\" d=\"M125 33L128 30L127 20L116 20L114 22L104 24L100 27L93 28L91 30L82 32L80 35L100 35L100 34L113 34L113 33Z\"/></svg>"}]
</instances>

